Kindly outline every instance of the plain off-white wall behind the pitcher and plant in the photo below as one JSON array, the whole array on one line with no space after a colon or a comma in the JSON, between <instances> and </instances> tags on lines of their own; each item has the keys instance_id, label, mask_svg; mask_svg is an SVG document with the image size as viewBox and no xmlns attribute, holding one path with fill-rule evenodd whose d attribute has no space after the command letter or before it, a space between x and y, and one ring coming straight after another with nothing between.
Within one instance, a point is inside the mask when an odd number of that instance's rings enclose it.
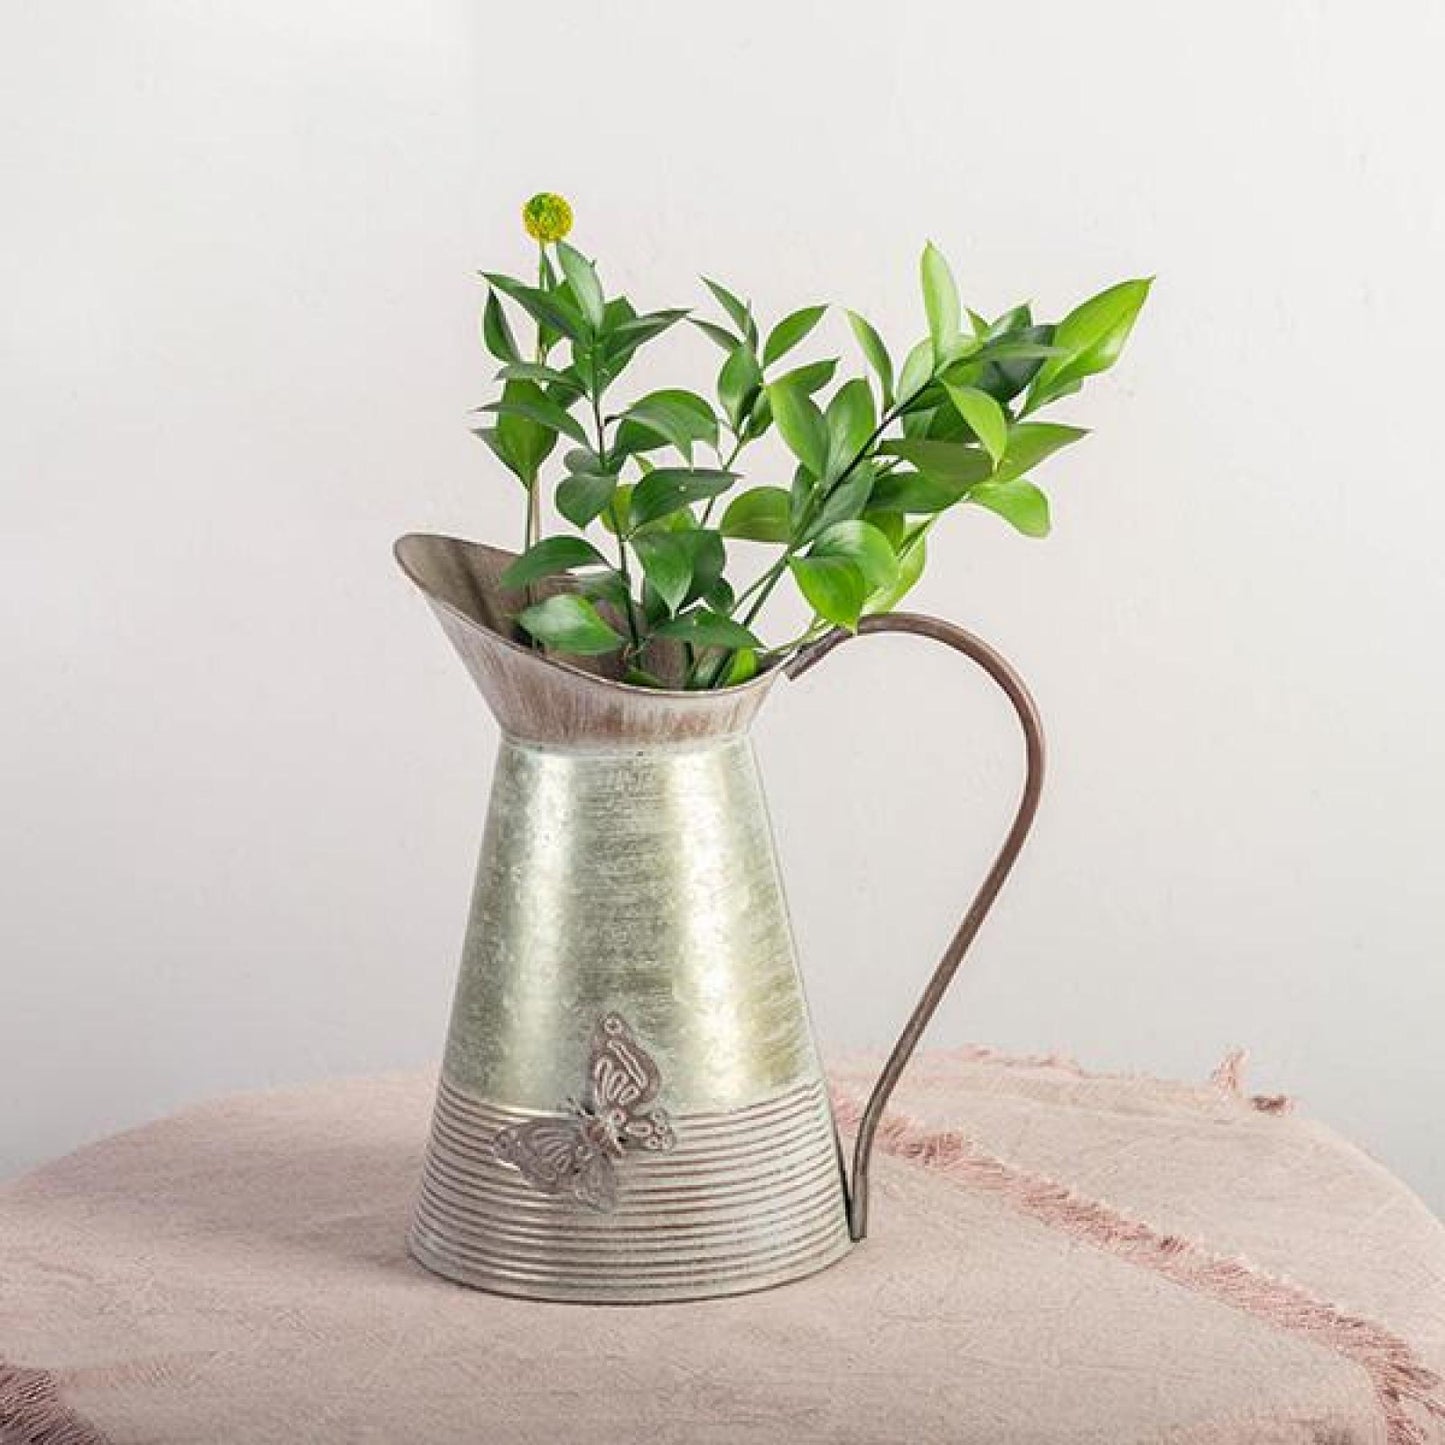
<instances>
[{"instance_id":1,"label":"plain off-white wall behind the pitcher and plant","mask_svg":"<svg viewBox=\"0 0 1445 1445\"><path fill-rule=\"evenodd\" d=\"M389 545L519 532L474 272L552 188L650 303L702 270L894 342L925 237L983 309L1157 273L1053 539L959 517L916 594L1053 746L936 1038L1241 1043L1445 1205L1442 45L1432 0L9 0L0 1173L436 1056L494 734ZM883 1043L1006 707L880 640L769 709L819 1026Z\"/></svg>"}]
</instances>

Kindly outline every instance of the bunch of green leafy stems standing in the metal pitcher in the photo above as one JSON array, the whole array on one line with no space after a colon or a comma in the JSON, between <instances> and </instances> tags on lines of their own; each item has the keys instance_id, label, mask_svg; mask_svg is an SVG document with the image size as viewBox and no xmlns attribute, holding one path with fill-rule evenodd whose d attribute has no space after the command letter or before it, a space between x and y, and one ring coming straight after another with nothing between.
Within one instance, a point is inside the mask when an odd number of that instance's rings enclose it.
<instances>
[{"instance_id":1,"label":"bunch of green leafy stems standing in the metal pitcher","mask_svg":"<svg viewBox=\"0 0 1445 1445\"><path fill-rule=\"evenodd\" d=\"M561 230L532 225L535 285L484 273L481 340L500 389L475 432L527 490L526 545L503 577L527 603L517 623L561 656L614 656L637 686L736 686L827 626L854 629L896 607L922 577L932 529L961 504L1045 536L1035 473L1087 432L1033 413L1117 363L1150 286L1110 286L1056 324L1029 305L990 319L962 305L929 243L926 335L896 361L873 324L845 311L864 374L835 384L837 357L796 360L827 306L764 325L743 293L705 279L711 315L639 312L561 238L569 225L569 211ZM714 397L665 387L611 400L634 357L683 318L722 353ZM749 484L738 460L773 431L772 465L786 457L788 470ZM545 496L571 530L543 535ZM772 552L730 558L730 539ZM730 578L738 561L744 575ZM812 623L769 647L754 621L785 581ZM653 647L663 640L670 653ZM683 676L669 672L675 655Z\"/></svg>"}]
</instances>

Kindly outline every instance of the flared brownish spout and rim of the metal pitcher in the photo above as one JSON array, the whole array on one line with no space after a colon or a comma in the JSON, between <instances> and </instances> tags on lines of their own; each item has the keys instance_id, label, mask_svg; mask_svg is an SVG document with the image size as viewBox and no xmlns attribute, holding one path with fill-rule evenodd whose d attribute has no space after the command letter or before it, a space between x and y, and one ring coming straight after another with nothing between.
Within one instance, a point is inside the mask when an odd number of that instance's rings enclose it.
<instances>
[{"instance_id":1,"label":"flared brownish spout and rim of the metal pitcher","mask_svg":"<svg viewBox=\"0 0 1445 1445\"><path fill-rule=\"evenodd\" d=\"M516 553L416 532L399 538L394 553L501 731L520 741L611 747L727 737L749 727L777 676L763 672L738 686L701 692L634 686L621 681L614 657L561 662L527 642L513 620L527 598L501 585ZM647 662L657 676L681 682L676 644Z\"/></svg>"}]
</instances>

